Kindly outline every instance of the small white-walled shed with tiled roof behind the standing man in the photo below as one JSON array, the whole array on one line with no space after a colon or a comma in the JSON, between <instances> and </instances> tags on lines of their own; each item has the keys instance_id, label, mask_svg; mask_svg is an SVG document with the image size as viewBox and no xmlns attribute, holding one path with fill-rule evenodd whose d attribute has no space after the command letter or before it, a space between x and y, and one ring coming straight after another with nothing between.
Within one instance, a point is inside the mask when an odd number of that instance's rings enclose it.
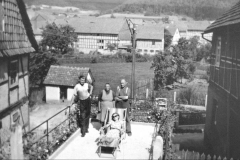
<instances>
[{"instance_id":1,"label":"small white-walled shed with tiled roof behind the standing man","mask_svg":"<svg viewBox=\"0 0 240 160\"><path fill-rule=\"evenodd\" d=\"M77 84L80 75L87 77L88 83L94 83L94 78L89 68L51 66L44 80L46 102L70 101L73 95L73 88Z\"/></svg>"}]
</instances>

